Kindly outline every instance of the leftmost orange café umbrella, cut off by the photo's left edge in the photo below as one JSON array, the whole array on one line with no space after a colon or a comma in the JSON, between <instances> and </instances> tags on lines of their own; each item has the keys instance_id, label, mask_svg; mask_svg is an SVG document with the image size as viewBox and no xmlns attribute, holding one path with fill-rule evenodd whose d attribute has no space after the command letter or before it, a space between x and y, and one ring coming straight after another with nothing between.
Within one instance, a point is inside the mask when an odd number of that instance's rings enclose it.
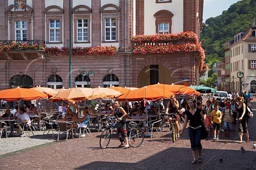
<instances>
[{"instance_id":1,"label":"leftmost orange caf\u00e9 umbrella, cut off by the photo's left edge","mask_svg":"<svg viewBox=\"0 0 256 170\"><path fill-rule=\"evenodd\" d=\"M0 91L0 99L5 101L37 100L38 98L46 99L47 94L38 92L31 88L11 88Z\"/></svg>"}]
</instances>

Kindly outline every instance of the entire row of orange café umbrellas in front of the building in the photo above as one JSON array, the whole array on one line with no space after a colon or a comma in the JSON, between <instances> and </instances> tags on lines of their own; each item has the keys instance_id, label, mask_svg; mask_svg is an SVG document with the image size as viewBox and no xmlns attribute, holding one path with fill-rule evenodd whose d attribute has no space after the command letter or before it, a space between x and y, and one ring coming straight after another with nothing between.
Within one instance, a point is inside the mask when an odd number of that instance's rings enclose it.
<instances>
[{"instance_id":1,"label":"entire row of orange caf\u00e9 umbrellas in front of the building","mask_svg":"<svg viewBox=\"0 0 256 170\"><path fill-rule=\"evenodd\" d=\"M134 90L135 89L135 90ZM50 101L82 101L100 98L117 98L124 101L158 100L170 98L171 95L200 95L199 92L183 85L155 84L141 88L109 87L109 88L82 88L75 87L68 90L53 90L47 87L34 88L13 88L0 91L0 99L6 101L35 100L45 99L47 96Z\"/></svg>"}]
</instances>

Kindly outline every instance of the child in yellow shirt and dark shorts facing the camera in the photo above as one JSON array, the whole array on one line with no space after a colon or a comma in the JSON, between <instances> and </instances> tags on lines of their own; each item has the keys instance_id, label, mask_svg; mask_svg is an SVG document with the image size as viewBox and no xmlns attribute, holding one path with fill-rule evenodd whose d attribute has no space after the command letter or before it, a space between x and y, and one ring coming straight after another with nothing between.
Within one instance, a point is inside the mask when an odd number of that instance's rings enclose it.
<instances>
[{"instance_id":1,"label":"child in yellow shirt and dark shorts facing the camera","mask_svg":"<svg viewBox=\"0 0 256 170\"><path fill-rule=\"evenodd\" d=\"M213 140L219 140L221 117L222 114L219 110L219 105L215 105L214 110L211 112L211 120L213 123Z\"/></svg>"}]
</instances>

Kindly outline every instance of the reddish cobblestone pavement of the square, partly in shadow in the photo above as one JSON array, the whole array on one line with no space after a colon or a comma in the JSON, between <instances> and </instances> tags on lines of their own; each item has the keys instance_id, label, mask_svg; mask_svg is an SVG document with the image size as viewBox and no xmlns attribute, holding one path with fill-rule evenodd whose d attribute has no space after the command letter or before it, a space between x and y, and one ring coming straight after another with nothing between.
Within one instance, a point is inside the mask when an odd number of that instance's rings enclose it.
<instances>
[{"instance_id":1,"label":"reddish cobblestone pavement of the square, partly in shadow","mask_svg":"<svg viewBox=\"0 0 256 170\"><path fill-rule=\"evenodd\" d=\"M191 164L187 129L174 143L166 128L164 137L154 132L153 138L147 137L139 148L128 149L118 148L117 139L111 140L108 148L100 149L100 132L57 143L51 134L41 138L42 132L37 131L35 136L0 140L0 169L256 169L256 149L252 148L255 127L254 117L249 120L250 141L242 144L237 143L237 131L230 137L221 132L219 141L202 140L203 162L195 165Z\"/></svg>"}]
</instances>

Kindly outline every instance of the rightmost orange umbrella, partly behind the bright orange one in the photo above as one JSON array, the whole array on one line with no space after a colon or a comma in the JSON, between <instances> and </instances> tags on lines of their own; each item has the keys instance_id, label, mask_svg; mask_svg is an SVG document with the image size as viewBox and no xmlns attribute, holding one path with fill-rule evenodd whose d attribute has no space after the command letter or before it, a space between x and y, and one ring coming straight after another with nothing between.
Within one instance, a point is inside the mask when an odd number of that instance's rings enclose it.
<instances>
[{"instance_id":1,"label":"rightmost orange umbrella, partly behind the bright orange one","mask_svg":"<svg viewBox=\"0 0 256 170\"><path fill-rule=\"evenodd\" d=\"M161 88L170 92L175 93L175 95L200 95L194 88L178 85L178 84L154 84L148 85L150 88Z\"/></svg>"}]
</instances>

